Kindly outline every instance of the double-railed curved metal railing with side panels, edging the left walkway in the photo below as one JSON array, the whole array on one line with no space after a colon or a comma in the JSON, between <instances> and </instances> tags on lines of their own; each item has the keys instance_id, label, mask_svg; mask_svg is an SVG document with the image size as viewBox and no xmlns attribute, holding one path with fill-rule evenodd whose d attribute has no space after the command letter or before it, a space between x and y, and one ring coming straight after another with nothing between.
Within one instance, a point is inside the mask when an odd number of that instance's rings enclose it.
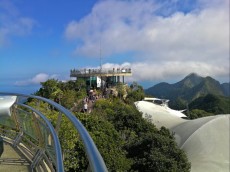
<instances>
[{"instance_id":1,"label":"double-railed curved metal railing with side panels, edging the left walkway","mask_svg":"<svg viewBox=\"0 0 230 172\"><path fill-rule=\"evenodd\" d=\"M32 146L31 148L33 149L33 152L35 152L35 153L32 153L32 164L31 164L32 168L35 168L38 162L41 161L41 155L44 155L45 154L44 151L46 151L45 159L53 160L52 165L54 166L54 168L53 170L51 169L51 171L60 171L60 172L64 171L62 151L61 151L61 146L60 146L59 139L57 136L58 135L57 126L56 126L56 131L55 131L53 125L40 111L20 102L21 98L26 98L26 99L32 98L32 99L46 102L49 105L53 106L56 110L59 111L57 125L60 125L62 114L65 115L72 122L72 124L78 131L80 138L83 141L91 170L95 172L107 171L104 160L101 157L101 154L99 153L89 133L87 132L85 127L82 125L82 123L69 110L65 109L63 106L61 106L60 104L50 99L46 99L46 98L39 97L39 96L17 94L17 93L4 93L4 92L0 92L0 96L3 96L3 97L4 96L5 97L6 96L16 96L16 101L14 102L12 106L13 108L11 109L12 115L14 115L14 117L16 118L15 126L12 127L14 128L15 131L17 131L12 137L14 146L19 145L20 141L22 140L22 137L24 139L27 139L27 142L29 142L30 145L34 145L35 142L38 143L37 145L39 145L39 146ZM24 109L29 109L30 112L25 111ZM1 116L1 111L0 111L0 116ZM33 123L31 121L33 121ZM26 129L31 127L30 125L35 125L33 126L35 128L36 126L40 127L39 129L35 130L37 134L40 134L41 136L40 139L34 138L33 133L27 132ZM6 131L4 132L6 133ZM43 142L41 142L41 139L44 139ZM34 149L34 147L41 147L42 149L38 149L38 148ZM55 155L55 156L53 157L52 155ZM48 164L47 161L45 164L47 166ZM52 165L48 164L48 166L52 166Z\"/></svg>"}]
</instances>

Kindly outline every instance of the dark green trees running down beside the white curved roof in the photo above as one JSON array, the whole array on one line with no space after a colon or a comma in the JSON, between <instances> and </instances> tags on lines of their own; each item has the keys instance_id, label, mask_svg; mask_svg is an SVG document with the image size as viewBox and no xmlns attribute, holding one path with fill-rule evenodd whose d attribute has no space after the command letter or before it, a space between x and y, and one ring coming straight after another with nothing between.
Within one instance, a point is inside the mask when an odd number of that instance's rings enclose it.
<instances>
[{"instance_id":1,"label":"dark green trees running down beside the white curved roof","mask_svg":"<svg viewBox=\"0 0 230 172\"><path fill-rule=\"evenodd\" d=\"M189 171L188 159L169 130L157 130L134 106L120 100L100 100L95 105L97 114L121 134L127 156L134 161L131 171Z\"/></svg>"}]
</instances>

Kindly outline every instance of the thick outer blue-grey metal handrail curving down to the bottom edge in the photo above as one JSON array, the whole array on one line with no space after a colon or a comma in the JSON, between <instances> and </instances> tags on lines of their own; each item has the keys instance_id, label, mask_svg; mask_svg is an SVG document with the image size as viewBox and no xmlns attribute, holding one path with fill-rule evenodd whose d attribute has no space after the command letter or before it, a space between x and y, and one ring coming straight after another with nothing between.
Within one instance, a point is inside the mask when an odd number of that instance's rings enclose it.
<instances>
[{"instance_id":1,"label":"thick outer blue-grey metal handrail curving down to the bottom edge","mask_svg":"<svg viewBox=\"0 0 230 172\"><path fill-rule=\"evenodd\" d=\"M39 97L35 95L26 95L26 94L19 94L19 93L5 93L5 92L0 92L0 95L5 95L5 96L22 96L22 97L27 97L27 98L35 98L41 101L44 101L56 109L58 109L60 112L62 112L74 125L74 127L77 129L77 131L80 134L80 137L84 143L84 147L86 150L87 158L89 160L89 164L91 167L91 170L94 172L103 172L103 171L108 171L106 168L106 165L104 163L104 160L98 151L96 145L94 144L92 138L90 137L89 133L83 126L83 124L67 109L65 109L63 106L60 104L50 100L46 99L44 97Z\"/></svg>"}]
</instances>

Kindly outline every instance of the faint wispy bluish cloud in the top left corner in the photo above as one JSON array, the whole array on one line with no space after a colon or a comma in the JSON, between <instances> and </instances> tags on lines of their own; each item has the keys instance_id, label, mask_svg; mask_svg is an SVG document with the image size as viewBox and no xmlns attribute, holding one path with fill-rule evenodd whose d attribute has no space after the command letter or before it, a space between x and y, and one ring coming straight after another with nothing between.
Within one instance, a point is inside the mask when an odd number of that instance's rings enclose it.
<instances>
[{"instance_id":1,"label":"faint wispy bluish cloud in the top left corner","mask_svg":"<svg viewBox=\"0 0 230 172\"><path fill-rule=\"evenodd\" d=\"M31 33L37 24L29 17L21 16L11 1L0 2L0 47L5 46L11 36L24 36Z\"/></svg>"}]
</instances>

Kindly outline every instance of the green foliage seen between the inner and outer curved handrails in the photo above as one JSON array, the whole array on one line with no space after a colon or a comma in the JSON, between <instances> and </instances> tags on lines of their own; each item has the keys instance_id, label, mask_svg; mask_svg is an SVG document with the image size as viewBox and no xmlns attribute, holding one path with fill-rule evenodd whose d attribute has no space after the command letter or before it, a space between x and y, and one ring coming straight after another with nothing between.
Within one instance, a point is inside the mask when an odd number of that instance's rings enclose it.
<instances>
[{"instance_id":1,"label":"green foliage seen between the inner and outer curved handrails","mask_svg":"<svg viewBox=\"0 0 230 172\"><path fill-rule=\"evenodd\" d=\"M58 112L50 107L47 103L31 100L29 105L36 107L37 110L42 112L52 123L54 127L57 126ZM58 133L62 151L64 153L65 170L78 169L82 166L87 166L87 163L82 162L78 156L84 156L84 151L75 151L75 147L82 148L83 144L79 141L79 134L74 130L70 121L62 116L61 126ZM83 150L83 149L80 149Z\"/></svg>"}]
</instances>

